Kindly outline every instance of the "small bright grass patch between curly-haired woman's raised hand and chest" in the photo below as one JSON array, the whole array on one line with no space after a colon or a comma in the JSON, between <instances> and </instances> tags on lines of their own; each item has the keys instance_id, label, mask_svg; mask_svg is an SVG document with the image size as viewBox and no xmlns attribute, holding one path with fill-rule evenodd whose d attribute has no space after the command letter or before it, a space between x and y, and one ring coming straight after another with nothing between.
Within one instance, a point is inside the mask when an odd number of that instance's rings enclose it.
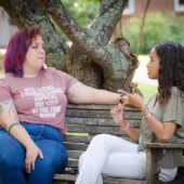
<instances>
[{"instance_id":1,"label":"small bright grass patch between curly-haired woman's raised hand and chest","mask_svg":"<svg viewBox=\"0 0 184 184\"><path fill-rule=\"evenodd\" d=\"M157 87L147 86L143 83L139 83L139 90L142 92L144 102L147 104L149 97L157 92Z\"/></svg>"}]
</instances>

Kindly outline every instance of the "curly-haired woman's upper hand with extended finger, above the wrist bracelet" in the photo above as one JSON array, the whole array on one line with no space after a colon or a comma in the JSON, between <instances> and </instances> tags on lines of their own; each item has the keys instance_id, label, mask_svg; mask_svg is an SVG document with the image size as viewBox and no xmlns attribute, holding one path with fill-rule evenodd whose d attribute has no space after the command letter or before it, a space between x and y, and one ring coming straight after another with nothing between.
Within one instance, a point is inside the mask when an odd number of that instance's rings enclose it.
<instances>
[{"instance_id":1,"label":"curly-haired woman's upper hand with extended finger, above the wrist bracelet","mask_svg":"<svg viewBox=\"0 0 184 184\"><path fill-rule=\"evenodd\" d=\"M140 108L141 110L143 109L145 103L140 94L137 93L130 94L123 90L118 90L118 92L123 94L123 97L120 97L120 100L123 102L122 105L132 105L134 107Z\"/></svg>"}]
</instances>

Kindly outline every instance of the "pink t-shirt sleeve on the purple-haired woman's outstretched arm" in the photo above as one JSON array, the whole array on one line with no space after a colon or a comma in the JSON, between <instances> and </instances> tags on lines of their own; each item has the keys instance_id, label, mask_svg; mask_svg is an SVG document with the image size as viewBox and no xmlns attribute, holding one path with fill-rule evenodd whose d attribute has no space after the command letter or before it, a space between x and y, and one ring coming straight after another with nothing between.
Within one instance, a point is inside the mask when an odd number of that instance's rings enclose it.
<instances>
[{"instance_id":1,"label":"pink t-shirt sleeve on the purple-haired woman's outstretched arm","mask_svg":"<svg viewBox=\"0 0 184 184\"><path fill-rule=\"evenodd\" d=\"M65 86L66 86L66 91L67 92L69 90L69 88L76 83L78 80L74 77L71 77L70 75L66 74L66 73L63 73L61 70L57 70L55 68L52 68L54 70L54 73L62 78L62 81L65 82Z\"/></svg>"}]
</instances>

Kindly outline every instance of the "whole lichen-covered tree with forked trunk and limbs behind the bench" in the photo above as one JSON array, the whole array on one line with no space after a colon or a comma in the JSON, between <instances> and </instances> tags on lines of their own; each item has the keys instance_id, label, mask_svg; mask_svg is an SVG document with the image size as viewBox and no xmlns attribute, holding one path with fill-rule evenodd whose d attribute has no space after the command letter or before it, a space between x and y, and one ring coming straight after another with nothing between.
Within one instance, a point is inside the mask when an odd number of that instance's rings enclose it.
<instances>
[{"instance_id":1,"label":"whole lichen-covered tree with forked trunk and limbs behind the bench","mask_svg":"<svg viewBox=\"0 0 184 184\"><path fill-rule=\"evenodd\" d=\"M128 0L102 0L89 29L79 26L61 0L28 1L0 0L0 3L19 28L35 25L43 28L48 65L61 70L67 66L70 75L95 88L130 91L137 58L124 39L108 44ZM60 38L48 14L73 41L70 49Z\"/></svg>"}]
</instances>

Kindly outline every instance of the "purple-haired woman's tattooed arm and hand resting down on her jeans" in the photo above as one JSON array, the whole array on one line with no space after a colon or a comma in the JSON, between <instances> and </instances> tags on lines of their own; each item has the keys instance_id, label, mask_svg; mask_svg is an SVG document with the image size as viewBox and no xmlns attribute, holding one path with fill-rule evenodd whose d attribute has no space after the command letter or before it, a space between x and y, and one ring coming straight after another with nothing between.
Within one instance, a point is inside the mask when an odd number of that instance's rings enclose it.
<instances>
[{"instance_id":1,"label":"purple-haired woman's tattooed arm and hand resting down on her jeans","mask_svg":"<svg viewBox=\"0 0 184 184\"><path fill-rule=\"evenodd\" d=\"M0 102L0 126L6 131L11 124L19 122L17 113L12 100L5 100ZM27 131L23 126L17 124L12 127L10 134L16 139L26 148L25 166L26 171L29 173L30 170L35 169L35 161L37 156L43 158L41 150L37 147L34 141L30 139Z\"/></svg>"}]
</instances>

